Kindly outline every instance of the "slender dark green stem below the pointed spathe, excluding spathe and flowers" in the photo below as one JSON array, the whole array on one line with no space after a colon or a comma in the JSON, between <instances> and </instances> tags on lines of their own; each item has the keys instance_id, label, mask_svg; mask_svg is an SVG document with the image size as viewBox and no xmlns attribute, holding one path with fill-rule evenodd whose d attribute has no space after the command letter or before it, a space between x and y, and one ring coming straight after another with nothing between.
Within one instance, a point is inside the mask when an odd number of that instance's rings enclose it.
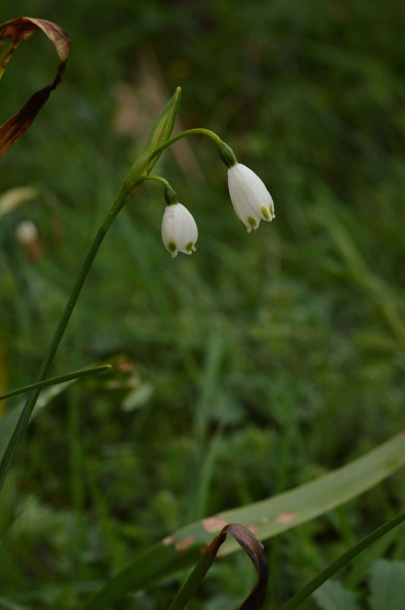
<instances>
[{"instance_id":1,"label":"slender dark green stem below the pointed spathe, excluding spathe and flowers","mask_svg":"<svg viewBox=\"0 0 405 610\"><path fill-rule=\"evenodd\" d=\"M96 239L91 245L90 250L85 258L85 262L80 270L79 276L74 284L71 295L69 296L69 301L66 304L65 311L63 312L62 318L58 323L57 329L55 331L54 336L52 337L51 343L49 344L48 351L43 359L41 364L40 372L38 373L36 382L43 381L48 374L49 368L51 367L52 361L54 360L55 353L58 349L59 343L62 340L63 334L65 333L66 326L68 326L69 319L72 315L72 311L74 306L76 305L77 298L79 298L80 291L82 290L83 284L85 282L86 276L90 270L91 265L93 264L93 260L96 257L97 251L100 248L102 240L105 237L108 229L111 226L114 218L118 215L119 211L124 207L125 203L130 199L134 191L131 193L125 188L125 185L122 185L120 188L118 195L116 196L110 210L108 210L107 216L104 218L102 225L97 232ZM24 404L24 409L19 416L18 423L13 431L12 437L7 445L6 450L4 451L4 455L0 462L0 490L4 484L4 479L7 476L7 472L9 472L10 465L12 464L15 453L18 449L18 445L21 442L21 438L23 437L24 432L26 431L29 419L31 417L33 407L35 407L35 403L37 402L38 395L40 393L40 389L32 390L29 393L26 404Z\"/></svg>"}]
</instances>

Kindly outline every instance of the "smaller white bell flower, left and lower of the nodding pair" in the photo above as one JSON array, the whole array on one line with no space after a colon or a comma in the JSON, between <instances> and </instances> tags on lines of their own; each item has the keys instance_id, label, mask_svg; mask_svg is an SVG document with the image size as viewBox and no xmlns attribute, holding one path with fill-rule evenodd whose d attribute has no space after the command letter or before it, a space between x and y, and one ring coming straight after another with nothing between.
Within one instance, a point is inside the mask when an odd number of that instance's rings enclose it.
<instances>
[{"instance_id":1,"label":"smaller white bell flower, left and lower of the nodding pair","mask_svg":"<svg viewBox=\"0 0 405 610\"><path fill-rule=\"evenodd\" d=\"M181 203L166 206L162 220L162 239L173 258L178 252L191 254L191 251L195 251L198 235L197 224L186 207Z\"/></svg>"}]
</instances>

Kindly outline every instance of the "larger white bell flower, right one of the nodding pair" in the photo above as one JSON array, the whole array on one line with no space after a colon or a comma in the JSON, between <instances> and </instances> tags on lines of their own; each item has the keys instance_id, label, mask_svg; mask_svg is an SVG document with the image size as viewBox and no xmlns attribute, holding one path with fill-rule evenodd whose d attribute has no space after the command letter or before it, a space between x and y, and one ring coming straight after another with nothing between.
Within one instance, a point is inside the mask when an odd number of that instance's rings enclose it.
<instances>
[{"instance_id":1,"label":"larger white bell flower, right one of the nodding pair","mask_svg":"<svg viewBox=\"0 0 405 610\"><path fill-rule=\"evenodd\" d=\"M247 232L257 229L261 219L275 218L273 199L261 179L245 165L236 163L228 169L228 187L238 218Z\"/></svg>"}]
</instances>

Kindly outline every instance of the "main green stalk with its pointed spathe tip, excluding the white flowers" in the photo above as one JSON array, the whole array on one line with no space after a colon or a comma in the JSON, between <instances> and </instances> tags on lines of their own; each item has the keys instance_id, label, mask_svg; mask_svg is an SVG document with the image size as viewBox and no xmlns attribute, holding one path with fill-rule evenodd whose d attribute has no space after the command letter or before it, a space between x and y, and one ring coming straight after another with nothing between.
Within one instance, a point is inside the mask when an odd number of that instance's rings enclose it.
<instances>
[{"instance_id":1,"label":"main green stalk with its pointed spathe tip, excluding the white flowers","mask_svg":"<svg viewBox=\"0 0 405 610\"><path fill-rule=\"evenodd\" d=\"M54 360L55 353L57 352L58 346L62 340L63 334L65 333L66 326L68 326L69 319L76 305L76 301L79 298L80 291L82 290L86 276L90 270L93 260L100 248L102 241L104 240L105 234L113 223L114 218L118 216L118 213L122 210L126 203L135 195L139 188L139 178L146 176L152 170L153 165L157 162L158 154L154 156L154 160L150 159L153 151L163 143L167 142L177 117L178 105L180 104L181 89L177 87L174 96L167 102L166 106L160 113L155 125L153 126L152 132L150 132L149 140L147 141L146 147L141 155L136 159L132 168L130 169L127 177L119 189L118 195L114 199L113 204L108 210L104 221L102 222L99 231L97 232L96 239L92 243L90 250L85 258L85 262L80 270L79 276L74 284L71 295L69 296L68 304L62 314L54 336L52 337L51 343L49 344L48 351L43 359L40 372L38 373L37 382L43 381L48 374L49 368L51 367L52 361ZM4 451L0 462L0 490L4 484L5 477L9 472L10 465L12 464L15 453L18 449L18 445L21 442L24 432L26 431L29 419L31 417L35 403L37 402L40 389L32 390L30 392L24 409L19 416L18 423L13 431L12 437Z\"/></svg>"}]
</instances>

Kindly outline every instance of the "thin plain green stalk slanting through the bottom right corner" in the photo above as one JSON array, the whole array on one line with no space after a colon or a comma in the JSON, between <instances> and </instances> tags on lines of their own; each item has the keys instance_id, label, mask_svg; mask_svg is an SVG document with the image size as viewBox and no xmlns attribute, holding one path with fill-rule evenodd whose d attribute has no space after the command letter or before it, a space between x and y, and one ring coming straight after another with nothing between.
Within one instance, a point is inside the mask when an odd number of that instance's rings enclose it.
<instances>
[{"instance_id":1,"label":"thin plain green stalk slanting through the bottom right corner","mask_svg":"<svg viewBox=\"0 0 405 610\"><path fill-rule=\"evenodd\" d=\"M379 526L379 528L375 529L371 534L365 536L365 538L360 540L360 542L357 542L354 547L351 547L348 551L346 551L346 553L343 553L339 557L339 559L336 559L336 561L328 565L325 570L317 574L315 578L312 578L312 580L308 584L306 584L305 587L303 587L300 591L298 591L298 593L296 593L294 597L291 598L291 600L287 601L287 603L284 604L284 606L282 606L280 610L294 610L294 608L298 608L300 603L305 601L309 597L309 595L311 595L315 590L317 590L321 586L321 584L325 583L328 578L331 578L331 576L338 572L340 568L348 564L348 562L354 559L354 557L361 553L361 551L364 551L365 548L369 547L370 544L376 542L376 540L381 538L381 536L384 536L384 534L387 534L387 532L400 525L404 521L405 512L403 512L401 515L398 515L398 517L390 519L389 521L387 521L387 523L384 523L384 525L381 525Z\"/></svg>"}]
</instances>

